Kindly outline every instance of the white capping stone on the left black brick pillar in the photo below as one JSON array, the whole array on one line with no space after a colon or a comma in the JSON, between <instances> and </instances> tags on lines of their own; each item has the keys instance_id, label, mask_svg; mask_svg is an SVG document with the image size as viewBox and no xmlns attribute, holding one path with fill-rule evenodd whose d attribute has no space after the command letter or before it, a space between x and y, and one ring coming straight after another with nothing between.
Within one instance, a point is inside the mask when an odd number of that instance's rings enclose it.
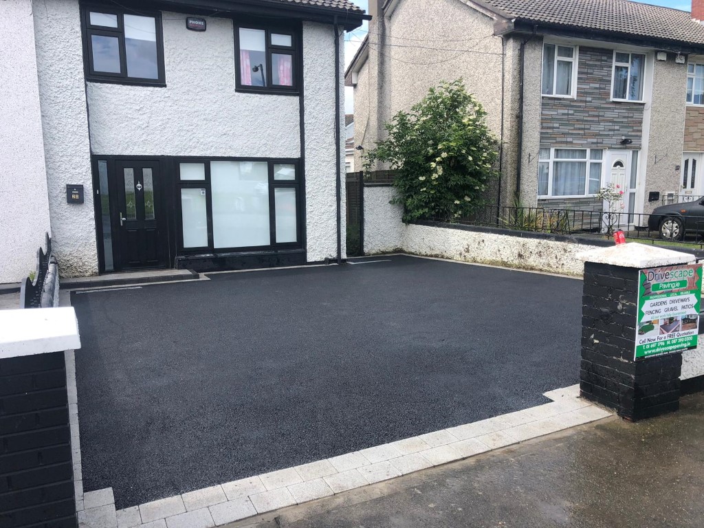
<instances>
[{"instance_id":1,"label":"white capping stone on the left black brick pillar","mask_svg":"<svg viewBox=\"0 0 704 528\"><path fill-rule=\"evenodd\" d=\"M0 359L81 348L73 307L0 310Z\"/></svg>"}]
</instances>

